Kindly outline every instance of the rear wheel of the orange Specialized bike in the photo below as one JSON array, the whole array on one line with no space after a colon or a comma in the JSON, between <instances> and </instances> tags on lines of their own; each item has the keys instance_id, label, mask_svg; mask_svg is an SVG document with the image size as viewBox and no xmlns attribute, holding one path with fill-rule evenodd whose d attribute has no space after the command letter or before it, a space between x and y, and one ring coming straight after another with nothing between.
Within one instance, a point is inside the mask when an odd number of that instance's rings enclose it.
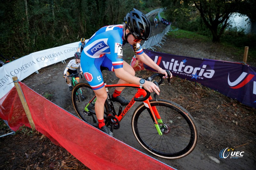
<instances>
[{"instance_id":1,"label":"rear wheel of the orange Specialized bike","mask_svg":"<svg viewBox=\"0 0 256 170\"><path fill-rule=\"evenodd\" d=\"M81 102L76 101L76 92L79 89L81 90L82 94L85 97L83 100L81 100ZM93 92L92 87L87 83L78 83L74 86L72 90L72 103L78 117L84 120L85 122L91 124L92 126L97 127L98 119L96 117L93 104L89 105L88 111L84 110L85 106L88 105L88 103L92 100L94 96L95 96L95 93ZM104 114L106 117L108 115L108 108L109 108L107 101L105 102L104 107L105 107ZM105 117L104 117L104 121L105 121L105 124L107 125L108 120Z\"/></svg>"}]
</instances>

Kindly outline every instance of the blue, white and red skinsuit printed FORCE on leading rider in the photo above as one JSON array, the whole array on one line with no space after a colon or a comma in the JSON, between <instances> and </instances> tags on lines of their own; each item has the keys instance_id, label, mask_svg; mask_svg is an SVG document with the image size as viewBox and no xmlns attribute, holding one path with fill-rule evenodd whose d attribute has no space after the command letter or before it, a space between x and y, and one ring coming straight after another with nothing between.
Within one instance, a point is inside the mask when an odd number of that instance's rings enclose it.
<instances>
[{"instance_id":1,"label":"blue, white and red skinsuit printed FORCE on leading rider","mask_svg":"<svg viewBox=\"0 0 256 170\"><path fill-rule=\"evenodd\" d=\"M93 90L104 87L101 66L109 71L123 68L123 37L123 25L105 26L86 43L81 54L81 67ZM136 44L136 53L144 53L139 43Z\"/></svg>"}]
</instances>

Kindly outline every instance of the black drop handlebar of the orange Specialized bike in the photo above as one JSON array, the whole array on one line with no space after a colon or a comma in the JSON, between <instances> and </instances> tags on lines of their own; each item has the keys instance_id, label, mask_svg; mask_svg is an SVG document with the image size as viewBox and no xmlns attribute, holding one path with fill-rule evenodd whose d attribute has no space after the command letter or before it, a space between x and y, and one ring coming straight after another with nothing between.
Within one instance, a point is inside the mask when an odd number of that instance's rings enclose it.
<instances>
[{"instance_id":1,"label":"black drop handlebar of the orange Specialized bike","mask_svg":"<svg viewBox=\"0 0 256 170\"><path fill-rule=\"evenodd\" d=\"M170 85L171 74L170 74L169 70L166 70L166 72L167 72L167 75L168 75L168 79L167 80L168 80L168 83ZM160 73L155 73L152 76L150 76L148 79L146 79L146 81L152 81L154 78L160 77L161 80L159 82L156 82L156 81L153 82L153 83L155 83L155 85L159 86L159 85L161 85L164 82L163 76L165 76L165 75L164 74L160 74ZM144 89L144 88L142 87L142 89ZM146 89L144 89L144 90L147 92L146 96L143 97L143 98L134 98L134 101L145 101L145 100L147 100L149 98L150 92L148 92Z\"/></svg>"}]
</instances>

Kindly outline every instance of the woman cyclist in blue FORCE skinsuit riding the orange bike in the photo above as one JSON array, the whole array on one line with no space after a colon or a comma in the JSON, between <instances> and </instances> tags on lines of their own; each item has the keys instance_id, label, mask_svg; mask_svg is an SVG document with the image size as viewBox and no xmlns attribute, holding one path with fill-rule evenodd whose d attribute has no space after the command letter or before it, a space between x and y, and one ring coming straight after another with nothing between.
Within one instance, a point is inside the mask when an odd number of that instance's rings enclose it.
<instances>
[{"instance_id":1,"label":"woman cyclist in blue FORCE skinsuit riding the orange bike","mask_svg":"<svg viewBox=\"0 0 256 170\"><path fill-rule=\"evenodd\" d=\"M114 134L105 126L103 119L107 92L104 88L100 66L107 67L109 71L115 71L116 77L120 78L118 84L133 83L159 95L160 90L154 83L135 77L132 66L123 60L122 46L129 43L132 45L135 55L143 63L167 77L167 72L150 59L140 46L140 41L148 40L150 34L151 25L146 15L133 9L124 17L123 25L105 26L94 33L81 54L81 67L84 70L84 77L97 97L95 113L99 122L98 129L110 136L114 136ZM127 105L129 101L120 96L124 88L116 87L112 100Z\"/></svg>"}]
</instances>

